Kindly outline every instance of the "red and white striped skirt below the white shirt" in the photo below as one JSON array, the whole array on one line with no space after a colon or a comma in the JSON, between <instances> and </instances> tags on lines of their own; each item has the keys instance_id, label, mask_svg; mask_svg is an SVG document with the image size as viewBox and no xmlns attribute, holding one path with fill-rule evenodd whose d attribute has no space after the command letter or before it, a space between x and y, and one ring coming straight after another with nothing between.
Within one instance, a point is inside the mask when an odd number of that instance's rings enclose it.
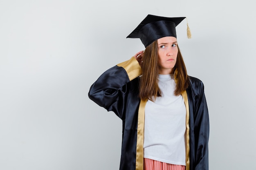
<instances>
[{"instance_id":1,"label":"red and white striped skirt below the white shirt","mask_svg":"<svg viewBox=\"0 0 256 170\"><path fill-rule=\"evenodd\" d=\"M153 159L144 158L144 170L185 170L184 165L173 165L170 163L164 163L155 161Z\"/></svg>"}]
</instances>

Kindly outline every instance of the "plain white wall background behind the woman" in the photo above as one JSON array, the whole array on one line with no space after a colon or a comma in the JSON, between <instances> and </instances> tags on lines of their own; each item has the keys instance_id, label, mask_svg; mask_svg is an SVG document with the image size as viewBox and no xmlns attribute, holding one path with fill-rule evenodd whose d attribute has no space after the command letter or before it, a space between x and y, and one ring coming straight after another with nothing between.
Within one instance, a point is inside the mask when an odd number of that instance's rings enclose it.
<instances>
[{"instance_id":1,"label":"plain white wall background behind the woman","mask_svg":"<svg viewBox=\"0 0 256 170\"><path fill-rule=\"evenodd\" d=\"M256 12L252 0L0 0L0 170L118 170L121 120L91 84L144 50L126 39L146 15L188 18L177 40L204 82L209 169L254 169Z\"/></svg>"}]
</instances>

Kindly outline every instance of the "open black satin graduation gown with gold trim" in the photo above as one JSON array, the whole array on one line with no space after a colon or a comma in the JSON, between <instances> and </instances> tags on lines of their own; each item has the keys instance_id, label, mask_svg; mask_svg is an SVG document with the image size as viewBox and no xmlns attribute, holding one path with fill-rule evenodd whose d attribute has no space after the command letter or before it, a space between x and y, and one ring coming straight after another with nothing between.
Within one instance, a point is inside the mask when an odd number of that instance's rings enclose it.
<instances>
[{"instance_id":1,"label":"open black satin graduation gown with gold trim","mask_svg":"<svg viewBox=\"0 0 256 170\"><path fill-rule=\"evenodd\" d=\"M88 96L123 122L120 170L143 170L144 109L139 99L141 67L132 57L104 72ZM186 106L186 170L208 170L209 115L203 83L189 77Z\"/></svg>"}]
</instances>

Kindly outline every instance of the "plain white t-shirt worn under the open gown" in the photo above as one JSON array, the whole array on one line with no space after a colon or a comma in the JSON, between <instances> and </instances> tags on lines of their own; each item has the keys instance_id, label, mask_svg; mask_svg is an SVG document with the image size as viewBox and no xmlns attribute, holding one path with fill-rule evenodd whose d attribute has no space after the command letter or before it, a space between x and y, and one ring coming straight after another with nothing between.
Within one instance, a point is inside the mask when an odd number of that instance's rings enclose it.
<instances>
[{"instance_id":1,"label":"plain white t-shirt worn under the open gown","mask_svg":"<svg viewBox=\"0 0 256 170\"><path fill-rule=\"evenodd\" d=\"M175 96L173 75L159 75L162 97L148 100L145 108L144 158L186 165L186 107Z\"/></svg>"}]
</instances>

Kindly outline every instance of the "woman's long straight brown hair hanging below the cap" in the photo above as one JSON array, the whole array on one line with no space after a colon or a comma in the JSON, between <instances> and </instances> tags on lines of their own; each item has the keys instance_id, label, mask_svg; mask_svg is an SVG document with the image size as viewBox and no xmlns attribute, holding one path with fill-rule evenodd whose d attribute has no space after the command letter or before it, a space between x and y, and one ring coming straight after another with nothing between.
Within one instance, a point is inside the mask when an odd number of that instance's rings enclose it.
<instances>
[{"instance_id":1,"label":"woman's long straight brown hair hanging below the cap","mask_svg":"<svg viewBox=\"0 0 256 170\"><path fill-rule=\"evenodd\" d=\"M177 61L173 68L175 70L176 89L175 95L180 95L182 91L189 87L189 76L186 72L186 66L180 48L178 48ZM157 40L146 47L143 54L143 64L141 65L142 76L140 78L139 97L140 99L149 99L154 101L157 96L161 96L158 87L158 44Z\"/></svg>"}]
</instances>

